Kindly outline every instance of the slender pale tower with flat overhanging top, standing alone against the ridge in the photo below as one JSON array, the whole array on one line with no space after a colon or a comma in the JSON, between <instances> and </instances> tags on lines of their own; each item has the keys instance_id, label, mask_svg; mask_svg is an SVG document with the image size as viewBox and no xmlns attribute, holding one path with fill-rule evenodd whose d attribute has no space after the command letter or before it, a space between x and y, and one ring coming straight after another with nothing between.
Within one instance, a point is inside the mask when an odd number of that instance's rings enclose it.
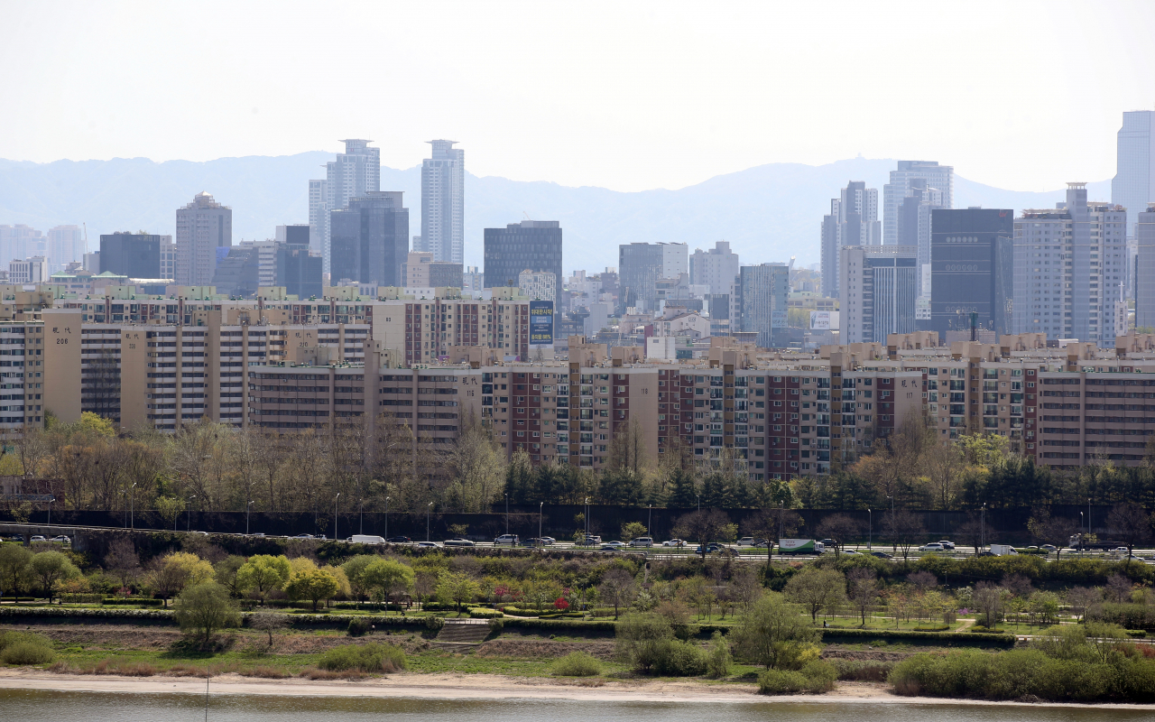
<instances>
[{"instance_id":1,"label":"slender pale tower with flat overhanging top, standing alone against the ridge","mask_svg":"<svg viewBox=\"0 0 1155 722\"><path fill-rule=\"evenodd\" d=\"M413 251L433 254L434 261L464 262L465 151L457 141L429 141L433 157L422 163L422 235Z\"/></svg>"}]
</instances>

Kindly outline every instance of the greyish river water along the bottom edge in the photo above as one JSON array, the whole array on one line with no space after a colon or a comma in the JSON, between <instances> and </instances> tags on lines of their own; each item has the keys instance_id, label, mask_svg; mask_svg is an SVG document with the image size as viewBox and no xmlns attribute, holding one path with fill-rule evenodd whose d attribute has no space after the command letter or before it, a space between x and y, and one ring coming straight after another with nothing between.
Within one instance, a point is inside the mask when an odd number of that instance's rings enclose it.
<instances>
[{"instance_id":1,"label":"greyish river water along the bottom edge","mask_svg":"<svg viewBox=\"0 0 1155 722\"><path fill-rule=\"evenodd\" d=\"M210 695L210 722L1149 722L1150 710L884 702L609 702ZM194 722L186 693L0 690L0 722Z\"/></svg>"}]
</instances>

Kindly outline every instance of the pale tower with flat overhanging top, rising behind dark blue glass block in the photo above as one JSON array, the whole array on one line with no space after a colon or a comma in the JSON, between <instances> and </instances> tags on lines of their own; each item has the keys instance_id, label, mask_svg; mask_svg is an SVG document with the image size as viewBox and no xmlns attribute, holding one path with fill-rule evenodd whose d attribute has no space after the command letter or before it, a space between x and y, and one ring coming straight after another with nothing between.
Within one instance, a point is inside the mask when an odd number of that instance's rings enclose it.
<instances>
[{"instance_id":1,"label":"pale tower with flat overhanging top, rising behind dark blue glass block","mask_svg":"<svg viewBox=\"0 0 1155 722\"><path fill-rule=\"evenodd\" d=\"M345 151L325 165L325 180L308 181L308 224L314 251L325 259L325 270L331 263L329 211L341 210L349 201L381 189L381 149L370 148L371 140L346 139Z\"/></svg>"}]
</instances>

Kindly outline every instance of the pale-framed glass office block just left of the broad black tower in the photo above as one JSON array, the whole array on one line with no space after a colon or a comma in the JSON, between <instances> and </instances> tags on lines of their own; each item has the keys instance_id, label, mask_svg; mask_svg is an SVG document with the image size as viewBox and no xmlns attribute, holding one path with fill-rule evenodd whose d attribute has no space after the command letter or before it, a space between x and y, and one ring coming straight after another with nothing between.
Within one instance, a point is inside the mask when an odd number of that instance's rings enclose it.
<instances>
[{"instance_id":1,"label":"pale-framed glass office block just left of the broad black tower","mask_svg":"<svg viewBox=\"0 0 1155 722\"><path fill-rule=\"evenodd\" d=\"M915 330L915 246L843 246L841 319L845 343L886 343Z\"/></svg>"}]
</instances>

